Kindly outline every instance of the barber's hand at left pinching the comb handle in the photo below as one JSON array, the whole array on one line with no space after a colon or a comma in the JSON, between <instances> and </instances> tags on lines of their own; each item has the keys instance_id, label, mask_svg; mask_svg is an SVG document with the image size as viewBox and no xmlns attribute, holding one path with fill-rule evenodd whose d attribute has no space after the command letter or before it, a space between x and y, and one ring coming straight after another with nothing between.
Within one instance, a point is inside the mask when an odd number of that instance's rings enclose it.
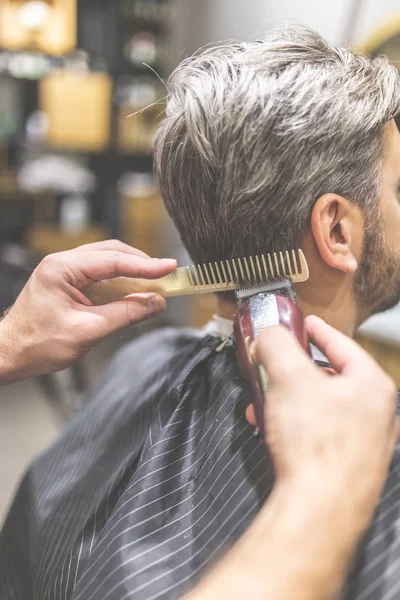
<instances>
[{"instance_id":1,"label":"barber's hand at left pinching the comb handle","mask_svg":"<svg viewBox=\"0 0 400 600\"><path fill-rule=\"evenodd\" d=\"M156 294L92 306L80 291L113 277L157 278L176 261L152 259L119 241L47 256L0 322L0 383L63 369L109 334L165 308Z\"/></svg>"}]
</instances>

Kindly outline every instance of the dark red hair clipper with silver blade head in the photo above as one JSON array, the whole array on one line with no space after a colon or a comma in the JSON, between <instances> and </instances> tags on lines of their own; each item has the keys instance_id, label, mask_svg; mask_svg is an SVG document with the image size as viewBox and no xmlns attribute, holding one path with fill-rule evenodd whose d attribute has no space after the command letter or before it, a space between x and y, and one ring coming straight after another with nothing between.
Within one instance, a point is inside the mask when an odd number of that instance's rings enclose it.
<instances>
[{"instance_id":1,"label":"dark red hair clipper with silver blade head","mask_svg":"<svg viewBox=\"0 0 400 600\"><path fill-rule=\"evenodd\" d=\"M263 367L251 357L249 348L265 327L284 325L296 336L300 345L311 356L310 342L304 325L304 317L296 304L296 296L291 282L286 280L271 286L275 290L257 292L246 290L237 293L239 310L235 316L234 333L237 359L241 371L248 380L253 397L254 411L260 435L264 440L264 403L267 377Z\"/></svg>"}]
</instances>

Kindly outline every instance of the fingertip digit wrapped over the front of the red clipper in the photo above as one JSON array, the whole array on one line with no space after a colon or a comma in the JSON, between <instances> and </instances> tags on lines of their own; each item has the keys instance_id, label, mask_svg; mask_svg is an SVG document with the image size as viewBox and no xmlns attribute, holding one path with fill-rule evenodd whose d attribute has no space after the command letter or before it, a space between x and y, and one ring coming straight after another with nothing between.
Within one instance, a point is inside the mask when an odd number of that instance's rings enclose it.
<instances>
[{"instance_id":1,"label":"fingertip digit wrapped over the front of the red clipper","mask_svg":"<svg viewBox=\"0 0 400 600\"><path fill-rule=\"evenodd\" d=\"M317 367L286 327L267 327L255 343L255 358L268 373L270 385L286 383Z\"/></svg>"}]
</instances>

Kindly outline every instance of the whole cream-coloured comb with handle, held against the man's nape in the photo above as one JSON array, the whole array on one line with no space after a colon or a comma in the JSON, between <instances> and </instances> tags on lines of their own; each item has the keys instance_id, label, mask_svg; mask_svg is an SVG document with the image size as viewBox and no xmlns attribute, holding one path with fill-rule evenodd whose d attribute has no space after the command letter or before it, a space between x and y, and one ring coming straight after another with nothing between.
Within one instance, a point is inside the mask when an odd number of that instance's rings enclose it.
<instances>
[{"instance_id":1,"label":"whole cream-coloured comb with handle, held against the man's nape","mask_svg":"<svg viewBox=\"0 0 400 600\"><path fill-rule=\"evenodd\" d=\"M285 277L299 283L306 281L308 276L303 252L290 250L180 267L160 279L117 277L97 281L82 291L93 304L100 305L143 292L154 292L167 298L228 292Z\"/></svg>"}]
</instances>

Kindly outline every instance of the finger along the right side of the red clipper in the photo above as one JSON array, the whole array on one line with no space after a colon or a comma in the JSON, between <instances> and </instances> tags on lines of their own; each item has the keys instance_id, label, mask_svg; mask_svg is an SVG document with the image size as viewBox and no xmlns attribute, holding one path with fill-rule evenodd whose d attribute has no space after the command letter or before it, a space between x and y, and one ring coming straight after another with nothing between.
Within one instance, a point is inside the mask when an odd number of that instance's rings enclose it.
<instances>
[{"instance_id":1,"label":"finger along the right side of the red clipper","mask_svg":"<svg viewBox=\"0 0 400 600\"><path fill-rule=\"evenodd\" d=\"M338 373L348 374L376 368L373 359L354 340L322 319L309 316L305 323L313 343Z\"/></svg>"}]
</instances>

